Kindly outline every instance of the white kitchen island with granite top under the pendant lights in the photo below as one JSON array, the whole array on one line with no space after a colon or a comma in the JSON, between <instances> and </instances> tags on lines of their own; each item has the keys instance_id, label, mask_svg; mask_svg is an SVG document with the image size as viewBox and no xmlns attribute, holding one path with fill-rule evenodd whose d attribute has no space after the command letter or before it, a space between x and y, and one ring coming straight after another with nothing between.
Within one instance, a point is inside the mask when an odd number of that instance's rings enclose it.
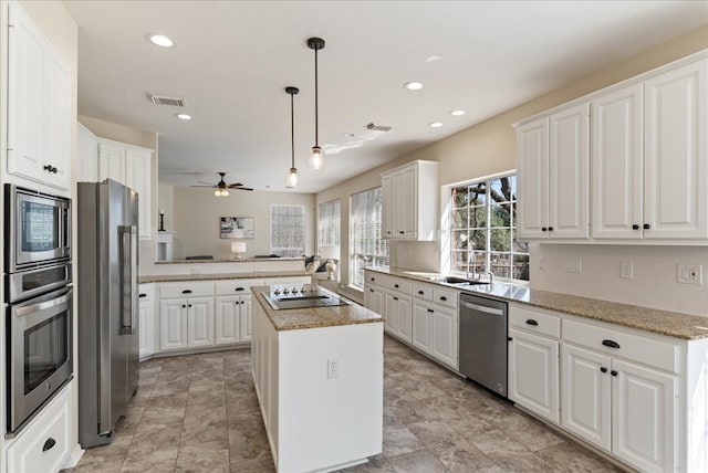
<instances>
[{"instance_id":1,"label":"white kitchen island with granite top under the pendant lights","mask_svg":"<svg viewBox=\"0 0 708 473\"><path fill-rule=\"evenodd\" d=\"M251 357L275 467L333 471L381 453L383 317L354 303L278 311L273 291L251 287Z\"/></svg>"}]
</instances>

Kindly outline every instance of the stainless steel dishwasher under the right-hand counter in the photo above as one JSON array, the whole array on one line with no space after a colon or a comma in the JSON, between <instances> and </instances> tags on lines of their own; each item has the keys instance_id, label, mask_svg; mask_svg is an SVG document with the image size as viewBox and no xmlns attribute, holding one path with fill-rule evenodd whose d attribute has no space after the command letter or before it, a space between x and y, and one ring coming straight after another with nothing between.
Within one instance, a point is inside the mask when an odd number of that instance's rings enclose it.
<instances>
[{"instance_id":1,"label":"stainless steel dishwasher under the right-hand counter","mask_svg":"<svg viewBox=\"0 0 708 473\"><path fill-rule=\"evenodd\" d=\"M459 369L507 397L507 303L460 295Z\"/></svg>"}]
</instances>

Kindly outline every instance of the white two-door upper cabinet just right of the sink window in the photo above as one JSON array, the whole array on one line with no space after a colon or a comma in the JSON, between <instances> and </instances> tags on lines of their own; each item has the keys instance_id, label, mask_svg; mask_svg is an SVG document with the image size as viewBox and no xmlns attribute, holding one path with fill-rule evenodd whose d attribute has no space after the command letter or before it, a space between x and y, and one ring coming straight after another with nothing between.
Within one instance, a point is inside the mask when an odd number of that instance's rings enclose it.
<instances>
[{"instance_id":1,"label":"white two-door upper cabinet just right of the sink window","mask_svg":"<svg viewBox=\"0 0 708 473\"><path fill-rule=\"evenodd\" d=\"M517 130L520 239L589 238L589 104Z\"/></svg>"}]
</instances>

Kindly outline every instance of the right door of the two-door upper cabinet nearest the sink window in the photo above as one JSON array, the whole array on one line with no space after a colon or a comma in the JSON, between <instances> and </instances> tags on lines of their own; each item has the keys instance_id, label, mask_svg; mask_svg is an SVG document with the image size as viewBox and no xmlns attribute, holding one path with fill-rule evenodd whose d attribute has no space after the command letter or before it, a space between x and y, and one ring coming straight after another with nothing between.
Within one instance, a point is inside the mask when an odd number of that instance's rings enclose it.
<instances>
[{"instance_id":1,"label":"right door of the two-door upper cabinet nearest the sink window","mask_svg":"<svg viewBox=\"0 0 708 473\"><path fill-rule=\"evenodd\" d=\"M549 118L550 238L590 236L590 104Z\"/></svg>"}]
</instances>

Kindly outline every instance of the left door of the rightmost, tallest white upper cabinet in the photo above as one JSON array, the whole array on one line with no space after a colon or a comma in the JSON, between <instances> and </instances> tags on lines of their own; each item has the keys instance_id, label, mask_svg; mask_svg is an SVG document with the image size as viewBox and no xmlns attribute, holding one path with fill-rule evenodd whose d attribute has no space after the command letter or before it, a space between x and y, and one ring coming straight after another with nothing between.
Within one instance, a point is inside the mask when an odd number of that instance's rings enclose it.
<instances>
[{"instance_id":1,"label":"left door of the rightmost, tallest white upper cabinet","mask_svg":"<svg viewBox=\"0 0 708 473\"><path fill-rule=\"evenodd\" d=\"M593 99L592 111L592 235L639 238L644 222L642 84Z\"/></svg>"}]
</instances>

